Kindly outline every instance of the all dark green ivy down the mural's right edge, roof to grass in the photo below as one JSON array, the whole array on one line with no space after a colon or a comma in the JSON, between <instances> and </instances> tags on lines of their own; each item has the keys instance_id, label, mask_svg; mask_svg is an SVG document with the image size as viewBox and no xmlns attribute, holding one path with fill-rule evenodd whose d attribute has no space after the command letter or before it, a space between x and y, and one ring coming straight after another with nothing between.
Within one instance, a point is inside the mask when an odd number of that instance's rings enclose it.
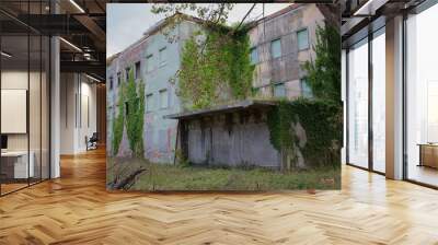
<instances>
[{"instance_id":1,"label":"all dark green ivy down the mural's right edge, roof to grass","mask_svg":"<svg viewBox=\"0 0 438 245\"><path fill-rule=\"evenodd\" d=\"M342 144L341 106L341 39L335 27L326 25L316 30L313 46L316 58L302 68L313 100L281 101L268 115L273 145L283 161L298 161L302 153L307 165L338 165ZM298 126L306 131L306 143L297 136Z\"/></svg>"}]
</instances>

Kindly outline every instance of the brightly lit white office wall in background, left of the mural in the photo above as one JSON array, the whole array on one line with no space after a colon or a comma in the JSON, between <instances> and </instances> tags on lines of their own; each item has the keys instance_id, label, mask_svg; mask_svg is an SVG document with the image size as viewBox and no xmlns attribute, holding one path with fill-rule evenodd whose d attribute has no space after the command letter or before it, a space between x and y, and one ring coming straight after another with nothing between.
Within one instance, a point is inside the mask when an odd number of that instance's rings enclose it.
<instances>
[{"instance_id":1,"label":"brightly lit white office wall in background, left of the mural","mask_svg":"<svg viewBox=\"0 0 438 245\"><path fill-rule=\"evenodd\" d=\"M61 73L60 154L87 151L85 136L96 131L96 85L91 82L83 74Z\"/></svg>"}]
</instances>

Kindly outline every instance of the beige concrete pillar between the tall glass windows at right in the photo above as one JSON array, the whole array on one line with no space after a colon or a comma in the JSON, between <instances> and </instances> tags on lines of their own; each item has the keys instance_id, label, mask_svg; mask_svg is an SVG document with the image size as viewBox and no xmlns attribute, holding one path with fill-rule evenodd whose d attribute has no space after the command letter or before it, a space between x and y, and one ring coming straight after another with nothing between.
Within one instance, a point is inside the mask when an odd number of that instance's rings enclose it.
<instances>
[{"instance_id":1,"label":"beige concrete pillar between the tall glass windows at right","mask_svg":"<svg viewBox=\"0 0 438 245\"><path fill-rule=\"evenodd\" d=\"M387 177L403 178L403 16L387 21Z\"/></svg>"}]
</instances>

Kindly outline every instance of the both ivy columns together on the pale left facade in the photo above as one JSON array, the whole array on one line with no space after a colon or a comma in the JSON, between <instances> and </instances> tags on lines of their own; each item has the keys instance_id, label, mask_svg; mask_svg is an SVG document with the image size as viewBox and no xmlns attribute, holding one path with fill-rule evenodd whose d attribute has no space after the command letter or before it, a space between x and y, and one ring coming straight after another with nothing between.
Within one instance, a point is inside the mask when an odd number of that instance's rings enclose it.
<instances>
[{"instance_id":1,"label":"both ivy columns together on the pale left facade","mask_svg":"<svg viewBox=\"0 0 438 245\"><path fill-rule=\"evenodd\" d=\"M145 83L135 81L134 70L130 69L128 81L123 81L118 89L118 115L114 119L113 152L117 154L120 147L124 127L129 141L129 149L136 156L143 154L143 122L145 122Z\"/></svg>"}]
</instances>

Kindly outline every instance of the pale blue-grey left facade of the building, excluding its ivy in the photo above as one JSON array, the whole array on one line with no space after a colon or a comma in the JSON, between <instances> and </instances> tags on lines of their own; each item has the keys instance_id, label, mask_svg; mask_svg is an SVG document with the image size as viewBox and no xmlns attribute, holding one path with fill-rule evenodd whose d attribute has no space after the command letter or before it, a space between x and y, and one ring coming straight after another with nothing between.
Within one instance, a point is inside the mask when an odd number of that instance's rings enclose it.
<instances>
[{"instance_id":1,"label":"pale blue-grey left facade of the building, excluding its ivy","mask_svg":"<svg viewBox=\"0 0 438 245\"><path fill-rule=\"evenodd\" d=\"M117 97L119 84L126 81L126 68L136 69L139 62L140 72L137 79L142 79L145 90L145 128L143 145L145 158L155 163L173 162L175 153L175 140L177 120L164 119L164 115L178 113L182 106L176 96L177 80L170 81L180 69L180 56L184 43L197 30L193 21L184 20L172 30L160 32L162 23L158 23L145 33L145 36L113 57L107 66L107 136L112 142L113 120L118 112ZM176 37L174 42L170 38ZM137 69L136 69L137 70ZM137 73L137 72L135 72ZM111 82L113 81L113 85ZM130 154L128 139L124 132L119 152L111 152L111 143L107 144L111 155L126 156Z\"/></svg>"}]
</instances>

